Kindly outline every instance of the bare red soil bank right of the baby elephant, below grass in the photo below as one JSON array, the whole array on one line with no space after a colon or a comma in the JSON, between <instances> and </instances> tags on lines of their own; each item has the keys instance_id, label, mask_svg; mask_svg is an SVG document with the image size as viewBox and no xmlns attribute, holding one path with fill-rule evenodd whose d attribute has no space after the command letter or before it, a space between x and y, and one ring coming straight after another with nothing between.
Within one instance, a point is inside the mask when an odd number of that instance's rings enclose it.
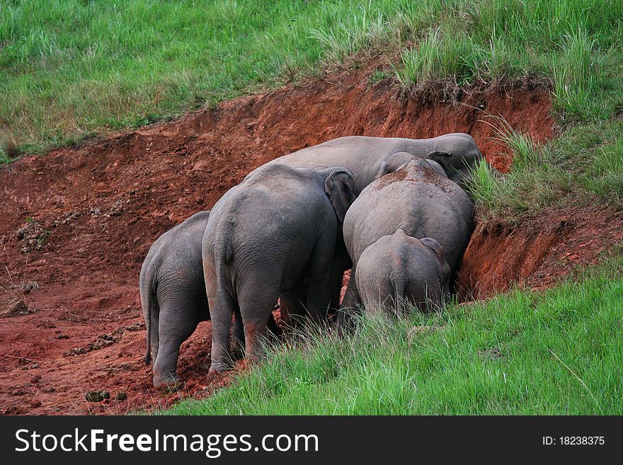
<instances>
[{"instance_id":1,"label":"bare red soil bank right of the baby elephant, below grass","mask_svg":"<svg viewBox=\"0 0 623 465\"><path fill-rule=\"evenodd\" d=\"M478 299L525 282L544 289L578 266L593 265L623 242L623 212L607 207L549 209L519 226L476 226L459 274L459 297Z\"/></svg>"}]
</instances>

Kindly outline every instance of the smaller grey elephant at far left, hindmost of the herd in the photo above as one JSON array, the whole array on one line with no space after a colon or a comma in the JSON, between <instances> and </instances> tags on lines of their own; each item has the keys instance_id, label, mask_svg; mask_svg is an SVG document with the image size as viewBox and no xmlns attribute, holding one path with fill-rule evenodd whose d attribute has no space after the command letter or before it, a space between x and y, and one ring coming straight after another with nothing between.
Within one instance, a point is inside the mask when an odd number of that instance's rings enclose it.
<instances>
[{"instance_id":1,"label":"smaller grey elephant at far left, hindmost of the herd","mask_svg":"<svg viewBox=\"0 0 623 465\"><path fill-rule=\"evenodd\" d=\"M149 248L139 277L147 355L154 358L153 384L172 386L179 381L180 345L193 334L200 321L210 320L207 305L201 242L210 212L198 212L162 234ZM270 330L279 328L272 314ZM243 338L242 323L234 321L234 340Z\"/></svg>"}]
</instances>

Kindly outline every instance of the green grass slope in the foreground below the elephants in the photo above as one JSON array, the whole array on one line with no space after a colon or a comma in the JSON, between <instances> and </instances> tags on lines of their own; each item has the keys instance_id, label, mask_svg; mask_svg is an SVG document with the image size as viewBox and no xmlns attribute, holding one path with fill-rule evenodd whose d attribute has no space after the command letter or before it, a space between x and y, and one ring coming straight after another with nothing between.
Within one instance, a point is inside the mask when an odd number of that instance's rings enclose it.
<instances>
[{"instance_id":1,"label":"green grass slope in the foreground below the elephants","mask_svg":"<svg viewBox=\"0 0 623 465\"><path fill-rule=\"evenodd\" d=\"M619 258L544 293L366 318L353 337L277 348L232 386L163 413L621 415L622 271Z\"/></svg>"}]
</instances>

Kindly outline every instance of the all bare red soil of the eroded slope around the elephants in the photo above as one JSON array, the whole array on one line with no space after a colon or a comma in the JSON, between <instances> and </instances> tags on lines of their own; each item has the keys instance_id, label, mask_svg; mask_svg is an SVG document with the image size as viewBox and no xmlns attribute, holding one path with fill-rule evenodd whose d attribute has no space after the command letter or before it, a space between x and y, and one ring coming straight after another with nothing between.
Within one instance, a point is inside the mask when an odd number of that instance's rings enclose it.
<instances>
[{"instance_id":1,"label":"all bare red soil of the eroded slope around the elephants","mask_svg":"<svg viewBox=\"0 0 623 465\"><path fill-rule=\"evenodd\" d=\"M351 134L421 138L469 132L486 158L504 169L508 156L488 139L494 134L476 108L503 115L536 140L552 136L546 91L517 87L478 93L465 98L471 106L404 102L389 82L368 86L374 69L240 98L1 169L0 303L16 294L11 285L37 282L39 287L23 296L35 313L0 318L0 411L124 413L207 395L227 384L229 377L207 376L207 322L182 346L179 372L185 388L174 394L152 388L151 368L142 362L139 268L157 236L210 209L270 159ZM581 260L585 251L601 246L590 241L610 214L585 213L551 212L515 231L483 226L465 259L465 281L477 280L486 290L493 282L503 285L535 272L547 277L548 266L567 250ZM36 240L29 245L28 236L16 235L27 218L40 224L40 250ZM563 219L566 225L557 226ZM584 227L590 234L582 232ZM611 235L620 236L615 229ZM41 236L45 230L50 232ZM539 253L524 252L526 244L535 243ZM33 250L22 253L23 246ZM112 398L87 402L84 394L98 389L110 391ZM114 400L119 391L127 400Z\"/></svg>"}]
</instances>

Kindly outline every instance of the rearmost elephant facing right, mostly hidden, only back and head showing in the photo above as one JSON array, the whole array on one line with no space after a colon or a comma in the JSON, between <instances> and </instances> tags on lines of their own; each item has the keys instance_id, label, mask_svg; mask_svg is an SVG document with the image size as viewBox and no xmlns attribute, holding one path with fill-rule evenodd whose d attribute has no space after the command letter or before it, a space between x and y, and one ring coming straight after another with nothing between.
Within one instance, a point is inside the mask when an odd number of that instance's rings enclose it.
<instances>
[{"instance_id":1,"label":"rearmost elephant facing right, mostly hidden, only back and head showing","mask_svg":"<svg viewBox=\"0 0 623 465\"><path fill-rule=\"evenodd\" d=\"M348 136L280 156L267 164L282 163L295 168L345 166L355 176L355 195L359 195L383 167L391 170L389 167L394 166L395 171L413 157L437 161L450 180L463 185L469 168L474 167L482 155L474 139L462 132L431 139Z\"/></svg>"}]
</instances>

